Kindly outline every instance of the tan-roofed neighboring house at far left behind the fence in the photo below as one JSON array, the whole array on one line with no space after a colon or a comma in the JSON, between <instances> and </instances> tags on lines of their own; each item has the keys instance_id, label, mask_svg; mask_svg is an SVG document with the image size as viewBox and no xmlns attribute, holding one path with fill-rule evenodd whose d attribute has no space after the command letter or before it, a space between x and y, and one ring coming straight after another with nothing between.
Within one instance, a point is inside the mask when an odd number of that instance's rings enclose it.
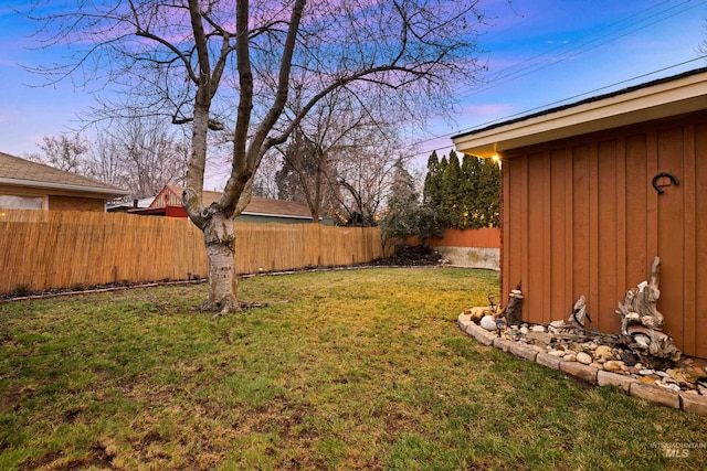
<instances>
[{"instance_id":1,"label":"tan-roofed neighboring house at far left behind the fence","mask_svg":"<svg viewBox=\"0 0 707 471\"><path fill-rule=\"evenodd\" d=\"M106 201L128 191L0 152L0 207L105 211Z\"/></svg>"}]
</instances>

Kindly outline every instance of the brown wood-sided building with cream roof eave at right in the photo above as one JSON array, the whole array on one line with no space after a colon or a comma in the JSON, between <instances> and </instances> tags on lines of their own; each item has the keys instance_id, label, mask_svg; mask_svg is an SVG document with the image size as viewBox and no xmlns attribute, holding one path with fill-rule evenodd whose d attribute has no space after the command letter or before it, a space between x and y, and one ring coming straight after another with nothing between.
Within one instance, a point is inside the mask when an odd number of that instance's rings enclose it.
<instances>
[{"instance_id":1,"label":"brown wood-sided building with cream roof eave at right","mask_svg":"<svg viewBox=\"0 0 707 471\"><path fill-rule=\"evenodd\" d=\"M625 291L663 261L664 331L707 357L707 68L453 138L502 168L502 292L523 318L620 330Z\"/></svg>"}]
</instances>

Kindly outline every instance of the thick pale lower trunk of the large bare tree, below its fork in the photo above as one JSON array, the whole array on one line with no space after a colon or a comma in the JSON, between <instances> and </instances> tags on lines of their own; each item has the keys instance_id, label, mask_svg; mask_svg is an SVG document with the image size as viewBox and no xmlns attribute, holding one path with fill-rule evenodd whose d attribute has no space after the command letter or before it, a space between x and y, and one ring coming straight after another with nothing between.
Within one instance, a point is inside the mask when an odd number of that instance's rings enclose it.
<instances>
[{"instance_id":1,"label":"thick pale lower trunk of the large bare tree, below its fork","mask_svg":"<svg viewBox=\"0 0 707 471\"><path fill-rule=\"evenodd\" d=\"M203 236L209 260L209 298L201 310L221 313L239 310L233 221L222 212L215 213L207 221Z\"/></svg>"}]
</instances>

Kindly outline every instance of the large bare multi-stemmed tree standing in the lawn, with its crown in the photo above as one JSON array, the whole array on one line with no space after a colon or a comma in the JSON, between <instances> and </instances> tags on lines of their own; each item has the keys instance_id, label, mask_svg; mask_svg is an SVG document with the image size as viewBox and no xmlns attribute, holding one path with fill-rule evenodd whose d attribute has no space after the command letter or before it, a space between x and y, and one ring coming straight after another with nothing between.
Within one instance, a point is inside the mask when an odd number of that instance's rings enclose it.
<instances>
[{"instance_id":1,"label":"large bare multi-stemmed tree standing in the lawn, with its crown","mask_svg":"<svg viewBox=\"0 0 707 471\"><path fill-rule=\"evenodd\" d=\"M41 72L61 78L81 68L144 96L144 109L191 125L182 204L204 233L210 285L202 308L224 312L239 306L232 220L267 150L344 87L386 88L400 108L421 96L450 98L452 82L471 79L476 67L476 3L124 0L31 14L55 33L51 43L75 44L72 64ZM304 69L310 79L302 109L285 113L291 78ZM209 130L228 132L232 165L222 196L204 206Z\"/></svg>"}]
</instances>

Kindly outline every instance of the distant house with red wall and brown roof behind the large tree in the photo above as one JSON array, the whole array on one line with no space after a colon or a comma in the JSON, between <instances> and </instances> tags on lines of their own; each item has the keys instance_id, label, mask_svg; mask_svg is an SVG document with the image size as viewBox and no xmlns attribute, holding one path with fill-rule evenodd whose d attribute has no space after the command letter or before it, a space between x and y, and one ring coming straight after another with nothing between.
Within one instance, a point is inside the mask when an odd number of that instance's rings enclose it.
<instances>
[{"instance_id":1,"label":"distant house with red wall and brown roof behind the large tree","mask_svg":"<svg viewBox=\"0 0 707 471\"><path fill-rule=\"evenodd\" d=\"M187 212L181 206L181 186L167 185L155 196L155 200L146 208L128 210L130 214L149 216L187 217ZM213 191L203 192L203 203L209 205L217 201L221 193ZM300 203L283 200L270 200L266 197L251 197L245 210L235 218L240 223L282 223L302 224L310 223L309 208Z\"/></svg>"}]
</instances>

